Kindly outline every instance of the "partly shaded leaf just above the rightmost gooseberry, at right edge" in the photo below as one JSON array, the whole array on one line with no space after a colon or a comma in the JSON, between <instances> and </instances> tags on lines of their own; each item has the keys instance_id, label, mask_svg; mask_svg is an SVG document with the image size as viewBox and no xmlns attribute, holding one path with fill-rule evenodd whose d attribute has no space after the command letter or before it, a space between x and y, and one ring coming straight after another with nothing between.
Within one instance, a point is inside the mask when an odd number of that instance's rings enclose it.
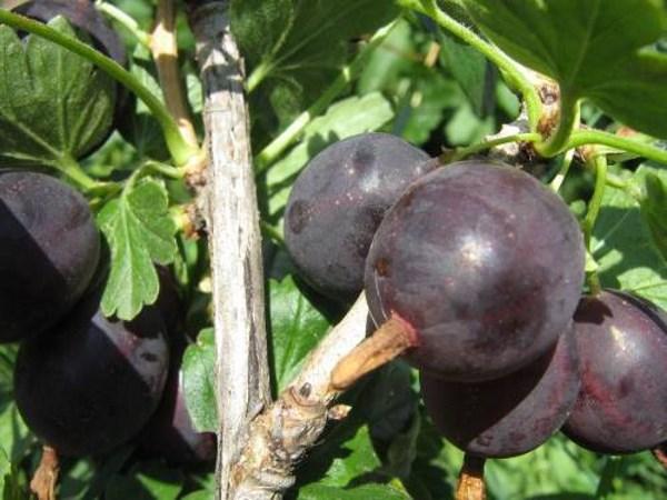
<instances>
[{"instance_id":1,"label":"partly shaded leaf just above the rightmost gooseberry, at right edge","mask_svg":"<svg viewBox=\"0 0 667 500\"><path fill-rule=\"evenodd\" d=\"M593 233L591 253L604 287L626 290L667 309L667 261L646 222L638 199L648 173L641 167L631 178L633 190L607 187ZM630 173L624 172L626 178ZM663 173L660 173L661 176Z\"/></svg>"}]
</instances>

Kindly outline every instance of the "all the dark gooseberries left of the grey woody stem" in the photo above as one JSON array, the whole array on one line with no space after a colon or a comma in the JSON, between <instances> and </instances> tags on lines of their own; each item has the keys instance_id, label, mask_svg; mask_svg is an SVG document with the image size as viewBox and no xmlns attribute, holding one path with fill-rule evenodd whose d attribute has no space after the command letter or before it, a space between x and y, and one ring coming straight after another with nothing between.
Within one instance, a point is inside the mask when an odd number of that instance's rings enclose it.
<instances>
[{"instance_id":1,"label":"all the dark gooseberries left of the grey woody stem","mask_svg":"<svg viewBox=\"0 0 667 500\"><path fill-rule=\"evenodd\" d=\"M99 50L126 61L120 39L92 2L31 1L17 10L40 21L64 16ZM0 342L21 341L14 372L21 416L66 456L99 454L136 440L172 462L212 460L213 436L196 432L185 407L176 283L160 269L156 306L132 321L104 318L103 253L79 192L44 173L2 166Z\"/></svg>"}]
</instances>

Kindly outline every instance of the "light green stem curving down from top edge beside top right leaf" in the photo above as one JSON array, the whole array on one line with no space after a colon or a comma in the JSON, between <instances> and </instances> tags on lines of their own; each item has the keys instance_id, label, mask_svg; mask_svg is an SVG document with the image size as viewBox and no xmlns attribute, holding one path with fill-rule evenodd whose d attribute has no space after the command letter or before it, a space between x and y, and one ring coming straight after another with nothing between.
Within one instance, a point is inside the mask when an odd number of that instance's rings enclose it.
<instances>
[{"instance_id":1,"label":"light green stem curving down from top edge beside top right leaf","mask_svg":"<svg viewBox=\"0 0 667 500\"><path fill-rule=\"evenodd\" d=\"M461 26L456 19L442 12L435 0L399 0L399 4L430 17L441 28L460 38L470 47L481 52L505 74L507 83L521 93L526 102L526 111L530 130L536 130L541 116L541 100L535 86L525 77L517 64L497 47L481 39L475 31Z\"/></svg>"}]
</instances>

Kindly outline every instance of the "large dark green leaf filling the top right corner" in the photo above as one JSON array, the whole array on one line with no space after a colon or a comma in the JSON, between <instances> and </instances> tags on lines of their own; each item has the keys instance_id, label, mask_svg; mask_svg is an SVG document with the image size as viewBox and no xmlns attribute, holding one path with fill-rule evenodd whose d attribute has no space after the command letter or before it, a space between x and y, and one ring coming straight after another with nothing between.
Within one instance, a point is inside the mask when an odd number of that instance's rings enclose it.
<instances>
[{"instance_id":1,"label":"large dark green leaf filling the top right corner","mask_svg":"<svg viewBox=\"0 0 667 500\"><path fill-rule=\"evenodd\" d=\"M462 0L509 56L624 123L667 137L667 29L661 0ZM631 12L631 14L630 14ZM650 46L650 47L649 47Z\"/></svg>"}]
</instances>

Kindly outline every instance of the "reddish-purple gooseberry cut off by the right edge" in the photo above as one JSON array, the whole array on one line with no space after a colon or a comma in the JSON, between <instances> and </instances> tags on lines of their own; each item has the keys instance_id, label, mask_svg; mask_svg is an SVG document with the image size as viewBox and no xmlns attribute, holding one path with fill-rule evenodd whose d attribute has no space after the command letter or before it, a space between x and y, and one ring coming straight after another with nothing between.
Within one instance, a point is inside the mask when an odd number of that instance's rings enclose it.
<instances>
[{"instance_id":1,"label":"reddish-purple gooseberry cut off by the right edge","mask_svg":"<svg viewBox=\"0 0 667 500\"><path fill-rule=\"evenodd\" d=\"M600 453L667 440L667 314L627 293L585 297L575 313L581 390L563 431Z\"/></svg>"}]
</instances>

